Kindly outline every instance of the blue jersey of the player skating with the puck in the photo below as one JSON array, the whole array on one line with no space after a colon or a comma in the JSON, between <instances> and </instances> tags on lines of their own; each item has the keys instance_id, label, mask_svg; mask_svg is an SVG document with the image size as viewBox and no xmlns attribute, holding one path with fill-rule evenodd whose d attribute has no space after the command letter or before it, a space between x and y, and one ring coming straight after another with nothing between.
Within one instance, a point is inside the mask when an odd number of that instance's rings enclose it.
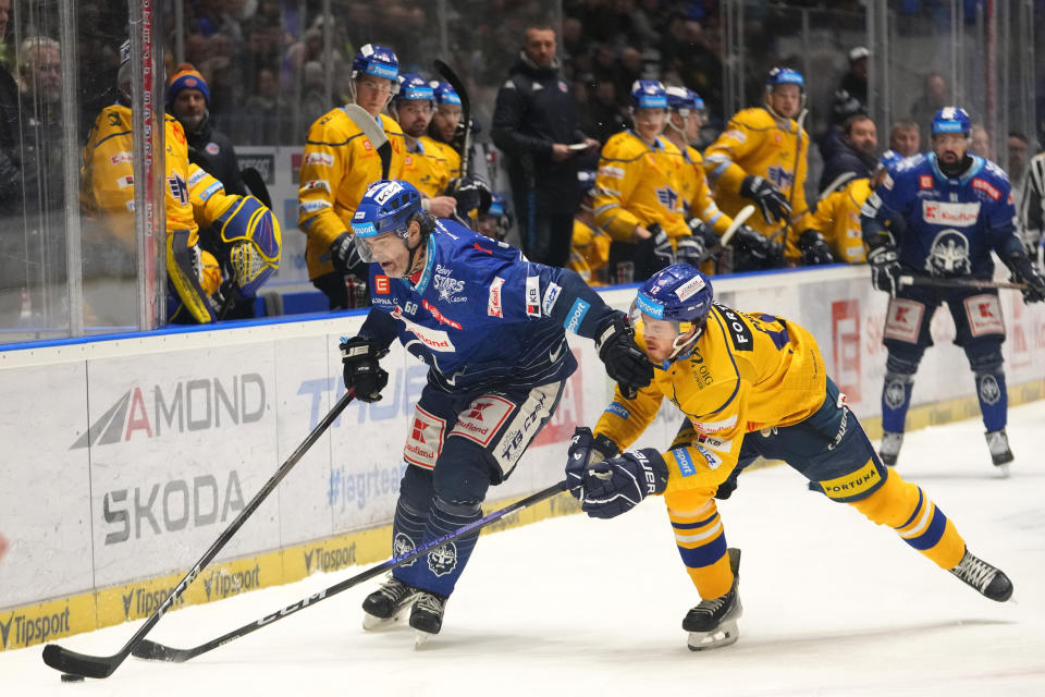
<instances>
[{"instance_id":1,"label":"blue jersey of the player skating with the puck","mask_svg":"<svg viewBox=\"0 0 1045 697\"><path fill-rule=\"evenodd\" d=\"M398 335L447 392L563 380L577 368L566 330L594 338L623 316L574 271L451 220L437 222L427 253L416 285L370 265L373 306L359 335L382 347Z\"/></svg>"}]
</instances>

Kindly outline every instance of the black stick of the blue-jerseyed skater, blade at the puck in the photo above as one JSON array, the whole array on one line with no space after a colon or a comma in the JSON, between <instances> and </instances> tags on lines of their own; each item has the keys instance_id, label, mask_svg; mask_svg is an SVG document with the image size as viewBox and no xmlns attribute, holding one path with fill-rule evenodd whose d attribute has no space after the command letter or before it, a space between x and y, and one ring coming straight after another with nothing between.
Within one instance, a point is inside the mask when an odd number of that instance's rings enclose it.
<instances>
[{"instance_id":1,"label":"black stick of the blue-jerseyed skater, blade at the puck","mask_svg":"<svg viewBox=\"0 0 1045 697\"><path fill-rule=\"evenodd\" d=\"M316 425L316 428L308 435L305 441L297 447L297 450L286 458L280 468L275 472L272 477L265 482L265 486L261 487L261 490L258 491L250 502L239 512L239 515L236 516L236 519L225 528L225 530L214 540L213 545L210 546L204 555L196 562L196 565L189 570L185 577L171 590L170 595L167 596L167 599L160 603L160 607L145 621L138 631L134 633L134 636L123 646L122 649L113 653L112 656L88 656L86 653L77 653L76 651L70 651L66 648L59 646L58 644L48 644L44 647L44 662L53 668L57 671L63 673L72 673L74 675L83 675L84 677L109 677L112 675L113 671L120 668L120 664L131 655L131 652L137 647L142 641L145 640L145 635L148 634L152 627L156 626L156 623L160 621L160 617L163 616L171 606L174 604L174 601L181 597L185 589L188 588L192 583L199 576L200 572L209 564L214 557L218 555L218 552L229 543L229 540L232 539L232 536L243 526L248 517L257 510L261 502L265 501L266 497L272 493L272 490L275 489L276 485L283 480L283 477L291 472L294 465L308 452L308 449L319 440L319 437L323 435L330 425L334 423L334 419L337 418L342 412L345 411L345 407L348 406L348 403L352 402L356 396L354 390L348 390L337 403L334 404L333 408L324 416L319 424Z\"/></svg>"}]
</instances>

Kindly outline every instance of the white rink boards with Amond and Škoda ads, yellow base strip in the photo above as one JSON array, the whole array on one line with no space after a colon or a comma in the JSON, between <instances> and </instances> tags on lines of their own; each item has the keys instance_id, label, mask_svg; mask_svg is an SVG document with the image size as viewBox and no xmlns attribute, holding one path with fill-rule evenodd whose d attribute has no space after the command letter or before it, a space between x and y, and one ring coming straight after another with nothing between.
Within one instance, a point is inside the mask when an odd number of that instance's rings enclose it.
<instances>
[{"instance_id":1,"label":"white rink boards with Amond and \u0160koda ads, yellow base strip","mask_svg":"<svg viewBox=\"0 0 1045 697\"><path fill-rule=\"evenodd\" d=\"M886 297L865 268L734 277L717 297L798 321L877 436ZM622 309L634 290L604 292ZM1045 311L1003 291L1010 403L1045 394ZM288 320L292 318L283 318ZM339 339L362 316L168 331L0 352L0 645L21 648L151 614L333 405ZM937 313L919 371L911 428L979 413L954 325ZM489 508L562 477L566 443L593 424L612 386L586 340L558 412ZM353 404L202 572L175 608L383 560L402 449L426 367L398 345L384 399ZM665 443L663 409L643 438ZM982 442L970 448L985 447ZM986 455L984 455L986 457ZM576 511L558 497L499 527ZM333 582L332 582L333 583Z\"/></svg>"}]
</instances>

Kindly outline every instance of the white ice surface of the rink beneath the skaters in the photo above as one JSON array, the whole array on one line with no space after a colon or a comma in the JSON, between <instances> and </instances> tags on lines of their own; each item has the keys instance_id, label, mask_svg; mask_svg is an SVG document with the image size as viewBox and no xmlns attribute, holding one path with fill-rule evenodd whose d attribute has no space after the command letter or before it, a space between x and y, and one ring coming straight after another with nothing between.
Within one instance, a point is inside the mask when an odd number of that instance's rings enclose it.
<instances>
[{"instance_id":1,"label":"white ice surface of the rink beneath the skaters","mask_svg":"<svg viewBox=\"0 0 1045 697\"><path fill-rule=\"evenodd\" d=\"M686 648L681 617L699 598L655 498L613 521L573 515L484 537L442 634L420 650L408 629L362 632L370 582L187 663L130 658L107 680L64 684L37 646L0 653L0 683L34 697L1045 695L1045 402L1012 408L1008 432L1009 479L979 419L909 433L898 466L1009 574L1005 604L773 467L746 473L720 504L743 550L745 614L727 648ZM196 646L359 571L187 608L150 638ZM110 655L137 626L60 643Z\"/></svg>"}]
</instances>

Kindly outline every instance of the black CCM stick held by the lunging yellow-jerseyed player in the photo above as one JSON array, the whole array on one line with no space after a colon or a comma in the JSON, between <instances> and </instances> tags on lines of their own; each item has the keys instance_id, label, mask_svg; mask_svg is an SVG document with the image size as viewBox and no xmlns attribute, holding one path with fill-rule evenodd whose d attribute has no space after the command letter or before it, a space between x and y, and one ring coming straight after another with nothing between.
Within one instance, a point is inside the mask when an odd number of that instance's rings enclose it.
<instances>
[{"instance_id":1,"label":"black CCM stick held by the lunging yellow-jerseyed player","mask_svg":"<svg viewBox=\"0 0 1045 697\"><path fill-rule=\"evenodd\" d=\"M500 511L494 511L493 513L484 517L481 517L478 521L472 521L468 525L462 528L458 528L453 533L447 533L446 535L443 535L442 537L432 540L428 545L422 545L421 547L418 547L417 549L415 549L413 552L408 552L406 554L399 554L398 557L393 557L388 561L381 562L377 566L371 566L367 571L360 574L356 574L352 578L346 578L345 580L336 583L333 586L330 586L329 588L320 590L317 594L312 594L308 598L303 598L302 600L298 600L293 604L286 606L282 610L278 610L272 614L267 614L256 622L251 622L250 624L245 624L238 629L233 629L228 634L223 634L216 639L211 639L210 641L200 644L199 646L196 646L194 648L176 649L170 646L164 646L162 644L157 644L156 641L149 641L148 639L146 639L139 643L138 646L134 649L134 655L137 658L145 658L153 661L171 661L174 663L183 663L192 658L196 658L200 653L206 653L207 651L216 649L223 644L228 644L233 639L238 639L239 637L250 634L256 629L260 629L263 626L268 626L274 622L278 622L287 615L294 614L298 610L311 607L317 602L320 602L321 600L327 600L328 598L332 598L333 596L336 596L337 594L340 594L342 590L347 590L353 586L357 586L365 580L369 580L373 578L374 576L380 576L386 571L391 571L396 566L401 566L403 564L406 564L407 562L410 562L417 559L418 557L421 557L422 554L427 553L431 549L441 547L446 542L451 542L459 537L468 535L469 533L480 530L487 527L488 525L490 525L491 523L494 523L503 518L509 513L514 513L515 511L519 511L527 506L531 506L534 503L543 501L544 499L550 499L556 493L566 491L568 488L569 488L569 485L565 480L560 481L556 485L553 485L546 489L538 491L537 493L528 496L525 499L516 501L515 503L507 505L501 509Z\"/></svg>"}]
</instances>

